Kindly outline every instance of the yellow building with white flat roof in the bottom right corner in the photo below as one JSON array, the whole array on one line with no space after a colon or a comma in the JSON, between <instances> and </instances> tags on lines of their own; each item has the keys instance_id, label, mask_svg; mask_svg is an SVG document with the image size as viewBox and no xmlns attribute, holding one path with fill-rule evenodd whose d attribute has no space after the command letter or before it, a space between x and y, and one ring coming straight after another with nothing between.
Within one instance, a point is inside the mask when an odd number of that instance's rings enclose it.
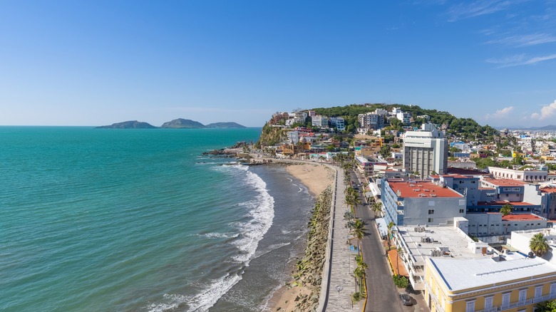
<instances>
[{"instance_id":1,"label":"yellow building with white flat roof in the bottom right corner","mask_svg":"<svg viewBox=\"0 0 556 312\"><path fill-rule=\"evenodd\" d=\"M457 258L457 255L455 255ZM556 298L556 265L520 253L485 259L426 259L431 312L533 312Z\"/></svg>"}]
</instances>

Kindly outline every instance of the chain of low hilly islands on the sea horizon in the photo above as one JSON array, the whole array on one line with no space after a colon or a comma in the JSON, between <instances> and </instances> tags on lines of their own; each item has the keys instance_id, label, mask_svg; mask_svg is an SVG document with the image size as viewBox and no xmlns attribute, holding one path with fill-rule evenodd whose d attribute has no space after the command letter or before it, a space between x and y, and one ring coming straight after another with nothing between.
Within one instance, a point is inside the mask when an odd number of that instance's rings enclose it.
<instances>
[{"instance_id":1,"label":"chain of low hilly islands on the sea horizon","mask_svg":"<svg viewBox=\"0 0 556 312\"><path fill-rule=\"evenodd\" d=\"M113 123L112 125L103 125L96 127L97 129L155 129L154 125L149 123L140 122L137 120L124 121L123 123ZM170 129L204 129L204 128L246 128L244 125L239 123L210 123L208 125L203 125L195 120L177 118L175 120L163 123L160 128L170 128Z\"/></svg>"}]
</instances>

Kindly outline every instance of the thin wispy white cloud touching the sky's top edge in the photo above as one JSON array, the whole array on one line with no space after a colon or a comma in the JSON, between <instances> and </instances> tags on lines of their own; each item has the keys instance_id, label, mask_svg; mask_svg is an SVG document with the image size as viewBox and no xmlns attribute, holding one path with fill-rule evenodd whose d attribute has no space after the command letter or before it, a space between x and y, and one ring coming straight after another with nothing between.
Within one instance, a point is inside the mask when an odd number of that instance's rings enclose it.
<instances>
[{"instance_id":1,"label":"thin wispy white cloud touching the sky's top edge","mask_svg":"<svg viewBox=\"0 0 556 312\"><path fill-rule=\"evenodd\" d=\"M448 21L458 21L460 19L493 14L524 1L526 0L479 0L473 2L463 2L452 6L448 10Z\"/></svg>"}]
</instances>

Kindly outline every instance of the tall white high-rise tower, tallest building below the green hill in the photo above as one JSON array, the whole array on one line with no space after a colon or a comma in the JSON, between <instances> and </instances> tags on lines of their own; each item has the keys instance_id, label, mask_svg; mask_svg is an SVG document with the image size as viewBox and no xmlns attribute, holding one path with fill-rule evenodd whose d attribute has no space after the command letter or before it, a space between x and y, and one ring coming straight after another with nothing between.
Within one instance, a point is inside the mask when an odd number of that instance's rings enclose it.
<instances>
[{"instance_id":1,"label":"tall white high-rise tower, tallest building below the green hill","mask_svg":"<svg viewBox=\"0 0 556 312\"><path fill-rule=\"evenodd\" d=\"M403 138L403 167L428 177L433 172L443 175L448 169L448 141L432 123L420 131L408 131Z\"/></svg>"}]
</instances>

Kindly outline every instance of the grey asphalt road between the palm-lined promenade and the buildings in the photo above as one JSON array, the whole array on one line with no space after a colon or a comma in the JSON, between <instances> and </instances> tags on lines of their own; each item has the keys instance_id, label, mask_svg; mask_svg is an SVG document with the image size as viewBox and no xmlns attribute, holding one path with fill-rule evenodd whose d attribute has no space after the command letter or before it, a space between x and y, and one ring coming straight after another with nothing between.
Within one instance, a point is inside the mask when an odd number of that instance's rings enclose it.
<instances>
[{"instance_id":1,"label":"grey asphalt road between the palm-lined promenade and the buildings","mask_svg":"<svg viewBox=\"0 0 556 312\"><path fill-rule=\"evenodd\" d=\"M351 179L356 181L356 183L363 182L354 173L351 174ZM362 194L361 203L356 206L355 214L366 222L366 228L369 230L363 241L361 241L363 259L369 266L366 274L369 296L365 311L413 311L412 306L403 306L401 304L398 288L393 284L388 258L385 256L385 250L382 246L382 239L374 222L374 212L369 209L369 205L366 204L366 199L364 199Z\"/></svg>"}]
</instances>

